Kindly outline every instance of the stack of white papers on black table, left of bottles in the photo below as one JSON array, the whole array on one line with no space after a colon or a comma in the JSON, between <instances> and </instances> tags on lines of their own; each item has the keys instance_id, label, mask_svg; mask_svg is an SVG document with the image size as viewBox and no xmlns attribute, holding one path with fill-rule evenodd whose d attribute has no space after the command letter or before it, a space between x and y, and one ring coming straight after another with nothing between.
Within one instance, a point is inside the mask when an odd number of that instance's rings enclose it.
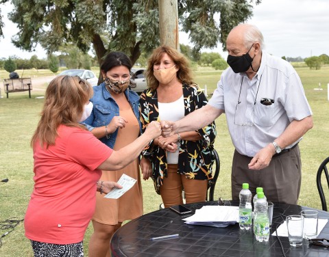
<instances>
[{"instance_id":1,"label":"stack of white papers on black table, left of bottles","mask_svg":"<svg viewBox=\"0 0 329 257\"><path fill-rule=\"evenodd\" d=\"M239 221L238 206L203 206L195 215L183 219L185 224L225 228Z\"/></svg>"}]
</instances>

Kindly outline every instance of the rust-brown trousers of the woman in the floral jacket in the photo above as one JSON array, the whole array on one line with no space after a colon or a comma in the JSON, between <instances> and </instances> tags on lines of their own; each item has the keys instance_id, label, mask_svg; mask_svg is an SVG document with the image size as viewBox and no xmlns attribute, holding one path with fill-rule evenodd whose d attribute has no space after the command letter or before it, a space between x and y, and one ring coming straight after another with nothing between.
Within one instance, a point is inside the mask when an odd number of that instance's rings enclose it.
<instances>
[{"instance_id":1,"label":"rust-brown trousers of the woman in the floral jacket","mask_svg":"<svg viewBox=\"0 0 329 257\"><path fill-rule=\"evenodd\" d=\"M164 177L160 194L164 207L183 204L182 188L184 188L186 204L205 202L208 180L194 180L177 173L178 165L169 164L167 178Z\"/></svg>"}]
</instances>

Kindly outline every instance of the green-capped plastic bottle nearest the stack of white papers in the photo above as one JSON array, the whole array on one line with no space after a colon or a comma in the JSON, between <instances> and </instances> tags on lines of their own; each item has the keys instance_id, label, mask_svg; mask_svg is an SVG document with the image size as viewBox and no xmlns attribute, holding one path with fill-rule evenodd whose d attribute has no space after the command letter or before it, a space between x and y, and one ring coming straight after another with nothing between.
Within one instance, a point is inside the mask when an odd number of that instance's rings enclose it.
<instances>
[{"instance_id":1,"label":"green-capped plastic bottle nearest the stack of white papers","mask_svg":"<svg viewBox=\"0 0 329 257\"><path fill-rule=\"evenodd\" d=\"M249 190L248 183L242 184L239 198L239 226L241 230L249 230L252 225L252 192Z\"/></svg>"}]
</instances>

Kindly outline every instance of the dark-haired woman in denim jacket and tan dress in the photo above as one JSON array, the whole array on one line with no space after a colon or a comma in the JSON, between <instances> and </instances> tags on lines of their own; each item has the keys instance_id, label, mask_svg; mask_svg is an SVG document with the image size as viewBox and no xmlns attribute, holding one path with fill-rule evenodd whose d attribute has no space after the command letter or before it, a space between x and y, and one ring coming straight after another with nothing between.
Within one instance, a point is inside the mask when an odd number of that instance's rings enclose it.
<instances>
[{"instance_id":1,"label":"dark-haired woman in denim jacket and tan dress","mask_svg":"<svg viewBox=\"0 0 329 257\"><path fill-rule=\"evenodd\" d=\"M128 87L132 62L121 52L111 52L101 65L103 83L93 87L91 115L83 122L95 137L117 150L141 135L139 96ZM132 189L119 199L97 194L93 216L94 232L90 238L89 256L110 256L110 239L123 221L143 215L143 198L138 159L119 171L103 171L101 180L118 181L122 174L137 180Z\"/></svg>"}]
</instances>

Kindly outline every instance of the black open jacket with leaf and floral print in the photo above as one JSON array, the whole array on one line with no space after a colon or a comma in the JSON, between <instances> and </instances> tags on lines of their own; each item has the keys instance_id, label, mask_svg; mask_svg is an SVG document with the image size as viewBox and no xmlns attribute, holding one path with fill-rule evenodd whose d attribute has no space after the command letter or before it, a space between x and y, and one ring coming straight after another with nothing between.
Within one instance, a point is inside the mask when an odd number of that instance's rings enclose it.
<instances>
[{"instance_id":1,"label":"black open jacket with leaf and floral print","mask_svg":"<svg viewBox=\"0 0 329 257\"><path fill-rule=\"evenodd\" d=\"M207 104L207 98L198 85L183 84L185 116ZM160 120L158 111L158 96L156 90L145 90L141 94L139 112L144 132L149 122ZM178 157L178 173L186 178L197 180L212 179L212 164L215 157L212 153L216 137L215 122L196 131L202 136L197 141L180 141ZM143 156L151 161L156 192L162 185L163 177L167 177L167 152L153 144L153 141L143 150ZM160 194L160 193L159 193Z\"/></svg>"}]
</instances>

